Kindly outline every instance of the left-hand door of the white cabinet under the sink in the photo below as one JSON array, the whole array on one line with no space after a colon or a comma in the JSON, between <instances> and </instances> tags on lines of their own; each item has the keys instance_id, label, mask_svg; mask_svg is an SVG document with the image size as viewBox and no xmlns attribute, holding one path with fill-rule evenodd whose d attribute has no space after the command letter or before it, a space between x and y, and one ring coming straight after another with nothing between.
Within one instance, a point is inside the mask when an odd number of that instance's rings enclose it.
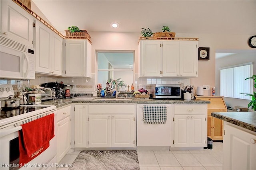
<instances>
[{"instance_id":1,"label":"left-hand door of the white cabinet under the sink","mask_svg":"<svg viewBox=\"0 0 256 170\"><path fill-rule=\"evenodd\" d=\"M111 147L111 116L88 116L88 147Z\"/></svg>"}]
</instances>

